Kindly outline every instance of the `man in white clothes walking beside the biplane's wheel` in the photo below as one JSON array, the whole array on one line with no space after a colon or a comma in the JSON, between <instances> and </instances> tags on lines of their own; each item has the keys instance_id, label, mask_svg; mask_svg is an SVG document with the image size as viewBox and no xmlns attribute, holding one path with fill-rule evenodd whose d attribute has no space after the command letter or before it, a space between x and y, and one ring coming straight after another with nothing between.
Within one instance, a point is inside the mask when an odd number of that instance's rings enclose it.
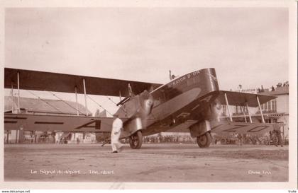
<instances>
[{"instance_id":1,"label":"man in white clothes walking beside the biplane's wheel","mask_svg":"<svg viewBox=\"0 0 298 193\"><path fill-rule=\"evenodd\" d=\"M111 130L111 148L112 153L118 153L121 151L121 142L119 141L120 135L121 135L121 129L123 127L123 122L121 119L116 117L114 119L112 130Z\"/></svg>"}]
</instances>

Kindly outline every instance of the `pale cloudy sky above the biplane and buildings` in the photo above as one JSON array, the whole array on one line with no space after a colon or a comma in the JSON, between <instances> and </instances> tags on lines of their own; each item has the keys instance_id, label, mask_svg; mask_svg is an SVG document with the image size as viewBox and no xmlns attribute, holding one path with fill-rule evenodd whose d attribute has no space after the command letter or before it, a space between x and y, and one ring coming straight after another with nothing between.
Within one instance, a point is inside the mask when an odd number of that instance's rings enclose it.
<instances>
[{"instance_id":1,"label":"pale cloudy sky above the biplane and buildings","mask_svg":"<svg viewBox=\"0 0 298 193\"><path fill-rule=\"evenodd\" d=\"M4 66L153 83L213 67L221 90L269 88L289 79L288 25L287 8L6 8Z\"/></svg>"}]
</instances>

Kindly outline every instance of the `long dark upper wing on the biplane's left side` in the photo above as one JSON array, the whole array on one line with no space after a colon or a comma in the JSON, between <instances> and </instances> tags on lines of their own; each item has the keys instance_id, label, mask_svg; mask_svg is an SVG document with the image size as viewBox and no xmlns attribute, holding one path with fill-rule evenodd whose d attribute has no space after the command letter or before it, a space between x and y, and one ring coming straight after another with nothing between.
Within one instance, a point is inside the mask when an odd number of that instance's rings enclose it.
<instances>
[{"instance_id":1,"label":"long dark upper wing on the biplane's left side","mask_svg":"<svg viewBox=\"0 0 298 193\"><path fill-rule=\"evenodd\" d=\"M19 74L20 89L26 90L75 93L75 87L77 87L77 93L82 94L84 93L83 80L85 80L87 94L118 96L119 93L121 93L122 96L127 96L128 83L135 94L141 93L143 90L152 90L161 86L161 84L158 83L5 68L4 88L11 88L11 86L14 88L17 87L17 74Z\"/></svg>"}]
</instances>

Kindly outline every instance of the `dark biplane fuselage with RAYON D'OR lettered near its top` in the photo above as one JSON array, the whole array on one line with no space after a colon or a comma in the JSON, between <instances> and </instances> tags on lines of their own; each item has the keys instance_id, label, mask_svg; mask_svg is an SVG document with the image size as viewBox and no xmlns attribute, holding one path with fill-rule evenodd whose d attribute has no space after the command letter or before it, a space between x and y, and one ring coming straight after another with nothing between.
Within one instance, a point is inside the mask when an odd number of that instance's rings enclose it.
<instances>
[{"instance_id":1,"label":"dark biplane fuselage with RAYON D'OR lettered near its top","mask_svg":"<svg viewBox=\"0 0 298 193\"><path fill-rule=\"evenodd\" d=\"M143 135L155 134L176 127L178 124L194 119L209 119L204 101L214 100L212 95L202 101L208 93L219 90L215 69L202 69L179 76L169 83L153 90L154 105L148 119L158 119L149 123ZM202 113L204 111L204 113Z\"/></svg>"}]
</instances>

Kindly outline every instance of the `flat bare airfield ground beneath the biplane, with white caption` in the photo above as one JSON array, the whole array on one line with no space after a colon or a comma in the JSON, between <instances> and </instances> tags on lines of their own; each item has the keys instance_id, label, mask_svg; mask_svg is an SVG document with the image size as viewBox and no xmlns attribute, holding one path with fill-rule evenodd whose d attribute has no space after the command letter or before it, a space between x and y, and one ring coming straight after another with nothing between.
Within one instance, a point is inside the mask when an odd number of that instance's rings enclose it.
<instances>
[{"instance_id":1,"label":"flat bare airfield ground beneath the biplane, with white caption","mask_svg":"<svg viewBox=\"0 0 298 193\"><path fill-rule=\"evenodd\" d=\"M5 181L287 182L288 146L6 144Z\"/></svg>"}]
</instances>

